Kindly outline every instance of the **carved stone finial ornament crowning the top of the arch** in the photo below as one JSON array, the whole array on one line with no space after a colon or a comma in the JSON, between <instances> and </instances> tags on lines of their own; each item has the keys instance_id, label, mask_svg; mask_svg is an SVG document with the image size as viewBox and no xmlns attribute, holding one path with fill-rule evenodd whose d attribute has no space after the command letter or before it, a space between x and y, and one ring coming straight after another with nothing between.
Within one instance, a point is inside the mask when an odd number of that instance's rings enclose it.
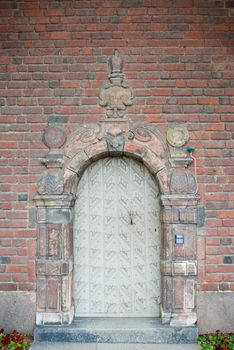
<instances>
[{"instance_id":1,"label":"carved stone finial ornament crowning the top of the arch","mask_svg":"<svg viewBox=\"0 0 234 350\"><path fill-rule=\"evenodd\" d=\"M100 106L106 109L107 118L123 118L133 103L133 90L125 81L123 59L117 49L109 60L109 69L109 82L100 92Z\"/></svg>"}]
</instances>

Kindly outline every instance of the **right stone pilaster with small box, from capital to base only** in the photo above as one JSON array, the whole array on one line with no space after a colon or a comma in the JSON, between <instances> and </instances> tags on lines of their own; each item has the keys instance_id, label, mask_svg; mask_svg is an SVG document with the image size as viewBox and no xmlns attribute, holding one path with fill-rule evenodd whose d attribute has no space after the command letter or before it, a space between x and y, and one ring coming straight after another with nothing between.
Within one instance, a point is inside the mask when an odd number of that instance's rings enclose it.
<instances>
[{"instance_id":1,"label":"right stone pilaster with small box, from capital to base only","mask_svg":"<svg viewBox=\"0 0 234 350\"><path fill-rule=\"evenodd\" d=\"M191 326L196 316L197 195L162 200L162 322Z\"/></svg>"}]
</instances>

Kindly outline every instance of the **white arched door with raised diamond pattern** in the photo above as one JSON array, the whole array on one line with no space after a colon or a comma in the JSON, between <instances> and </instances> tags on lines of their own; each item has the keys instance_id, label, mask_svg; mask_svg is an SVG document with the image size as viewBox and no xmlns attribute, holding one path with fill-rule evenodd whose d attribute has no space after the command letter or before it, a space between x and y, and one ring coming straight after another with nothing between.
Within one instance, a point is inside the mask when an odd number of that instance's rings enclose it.
<instances>
[{"instance_id":1,"label":"white arched door with raised diamond pattern","mask_svg":"<svg viewBox=\"0 0 234 350\"><path fill-rule=\"evenodd\" d=\"M158 188L137 161L105 158L82 176L74 220L76 316L159 316Z\"/></svg>"}]
</instances>

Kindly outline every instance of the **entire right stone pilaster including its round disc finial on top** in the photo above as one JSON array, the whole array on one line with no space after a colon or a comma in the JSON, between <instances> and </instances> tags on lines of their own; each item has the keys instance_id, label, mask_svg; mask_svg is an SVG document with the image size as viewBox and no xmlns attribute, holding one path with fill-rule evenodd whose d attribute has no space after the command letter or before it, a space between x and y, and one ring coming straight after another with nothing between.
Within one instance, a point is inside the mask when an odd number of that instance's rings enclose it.
<instances>
[{"instance_id":1,"label":"entire right stone pilaster including its round disc finial on top","mask_svg":"<svg viewBox=\"0 0 234 350\"><path fill-rule=\"evenodd\" d=\"M162 201L162 322L192 326L197 321L197 182L187 169L193 158L182 146L189 139L185 125L169 127L167 141L173 146L169 163L170 194Z\"/></svg>"}]
</instances>

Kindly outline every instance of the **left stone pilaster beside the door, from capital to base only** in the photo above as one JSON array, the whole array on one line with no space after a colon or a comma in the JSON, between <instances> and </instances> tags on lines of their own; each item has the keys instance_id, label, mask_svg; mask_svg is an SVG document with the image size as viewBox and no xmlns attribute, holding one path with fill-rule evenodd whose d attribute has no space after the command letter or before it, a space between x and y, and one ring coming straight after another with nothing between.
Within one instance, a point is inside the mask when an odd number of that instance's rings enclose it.
<instances>
[{"instance_id":1,"label":"left stone pilaster beside the door, from capital to base only","mask_svg":"<svg viewBox=\"0 0 234 350\"><path fill-rule=\"evenodd\" d=\"M71 195L38 195L36 323L71 323L72 207Z\"/></svg>"}]
</instances>

